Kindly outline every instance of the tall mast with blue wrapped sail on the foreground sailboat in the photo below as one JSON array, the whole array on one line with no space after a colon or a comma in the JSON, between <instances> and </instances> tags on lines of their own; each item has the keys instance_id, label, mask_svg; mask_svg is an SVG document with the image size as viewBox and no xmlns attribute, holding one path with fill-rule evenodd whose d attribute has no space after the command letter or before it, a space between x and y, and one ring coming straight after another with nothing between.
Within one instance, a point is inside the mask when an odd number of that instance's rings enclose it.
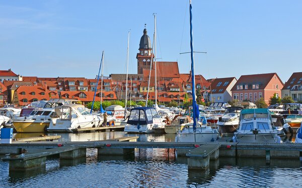
<instances>
[{"instance_id":1,"label":"tall mast with blue wrapped sail on the foreground sailboat","mask_svg":"<svg viewBox=\"0 0 302 188\"><path fill-rule=\"evenodd\" d=\"M194 74L194 51L193 51L193 26L192 26L192 3L190 0L190 47L191 47L191 77L192 77L192 107L193 107L193 131L196 131L197 118L199 116L199 110L196 103L195 92L195 74Z\"/></svg>"}]
</instances>

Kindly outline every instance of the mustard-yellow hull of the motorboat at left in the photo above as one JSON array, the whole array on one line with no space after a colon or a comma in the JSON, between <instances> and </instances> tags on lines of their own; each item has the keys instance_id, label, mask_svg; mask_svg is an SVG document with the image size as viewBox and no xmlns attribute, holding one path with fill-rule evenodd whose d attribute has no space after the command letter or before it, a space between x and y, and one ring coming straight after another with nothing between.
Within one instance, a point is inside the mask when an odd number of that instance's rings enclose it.
<instances>
[{"instance_id":1,"label":"mustard-yellow hull of the motorboat at left","mask_svg":"<svg viewBox=\"0 0 302 188\"><path fill-rule=\"evenodd\" d=\"M49 122L14 122L14 127L18 133L20 132L45 132L49 126Z\"/></svg>"}]
</instances>

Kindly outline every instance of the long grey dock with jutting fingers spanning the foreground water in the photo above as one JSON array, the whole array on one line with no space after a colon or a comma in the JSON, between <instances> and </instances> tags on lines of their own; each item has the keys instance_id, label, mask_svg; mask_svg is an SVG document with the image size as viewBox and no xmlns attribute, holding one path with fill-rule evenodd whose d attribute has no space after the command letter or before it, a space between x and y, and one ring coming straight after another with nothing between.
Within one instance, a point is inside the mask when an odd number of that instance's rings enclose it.
<instances>
[{"instance_id":1,"label":"long grey dock with jutting fingers spanning the foreground water","mask_svg":"<svg viewBox=\"0 0 302 188\"><path fill-rule=\"evenodd\" d=\"M27 170L45 164L46 156L59 154L60 159L86 156L87 148L97 149L98 155L134 155L135 148L171 148L177 149L178 156L186 156L188 169L206 170L211 160L219 157L258 157L299 159L302 144L295 143L237 143L237 142L137 142L138 136L125 136L109 140L75 142L14 142L0 144L2 158L10 162L10 170ZM28 153L21 153L26 149ZM15 155L13 155L15 153ZM26 162L27 161L27 162ZM18 163L18 164L16 164ZM12 166L12 167L11 167Z\"/></svg>"}]
</instances>

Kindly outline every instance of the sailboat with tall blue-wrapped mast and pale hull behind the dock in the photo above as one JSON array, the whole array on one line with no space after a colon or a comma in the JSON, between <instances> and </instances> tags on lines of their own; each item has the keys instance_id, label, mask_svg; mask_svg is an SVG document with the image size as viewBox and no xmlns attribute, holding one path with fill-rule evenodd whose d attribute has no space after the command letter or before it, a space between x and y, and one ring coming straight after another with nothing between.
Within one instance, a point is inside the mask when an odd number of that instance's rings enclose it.
<instances>
[{"instance_id":1,"label":"sailboat with tall blue-wrapped mast and pale hull behind the dock","mask_svg":"<svg viewBox=\"0 0 302 188\"><path fill-rule=\"evenodd\" d=\"M190 38L191 38L191 79L192 79L192 107L193 123L182 124L185 127L177 132L175 141L178 142L208 142L219 138L217 129L206 126L197 121L199 117L199 107L196 103L195 74L194 74L194 51L193 51L193 28L192 28L192 4L190 0Z\"/></svg>"}]
</instances>

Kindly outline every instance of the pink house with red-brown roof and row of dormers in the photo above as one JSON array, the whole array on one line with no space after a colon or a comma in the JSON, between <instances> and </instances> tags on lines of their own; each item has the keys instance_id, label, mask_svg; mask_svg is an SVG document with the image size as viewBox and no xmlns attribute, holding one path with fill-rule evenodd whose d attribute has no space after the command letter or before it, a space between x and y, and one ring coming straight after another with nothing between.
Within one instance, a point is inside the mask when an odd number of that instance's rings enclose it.
<instances>
[{"instance_id":1,"label":"pink house with red-brown roof and row of dormers","mask_svg":"<svg viewBox=\"0 0 302 188\"><path fill-rule=\"evenodd\" d=\"M274 93L281 95L283 85L277 73L243 75L231 89L232 98L250 102L263 98L268 104Z\"/></svg>"}]
</instances>

